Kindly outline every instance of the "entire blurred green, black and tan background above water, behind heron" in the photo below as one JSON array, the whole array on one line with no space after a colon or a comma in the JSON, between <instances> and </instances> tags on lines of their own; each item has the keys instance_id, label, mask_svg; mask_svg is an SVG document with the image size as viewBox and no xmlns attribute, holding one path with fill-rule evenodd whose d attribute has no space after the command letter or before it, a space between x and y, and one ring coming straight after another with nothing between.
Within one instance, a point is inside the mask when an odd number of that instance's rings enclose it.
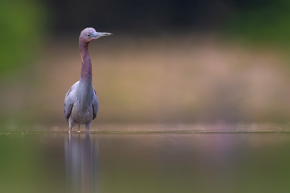
<instances>
[{"instance_id":1,"label":"entire blurred green, black and tan background above water, behind heron","mask_svg":"<svg viewBox=\"0 0 290 193\"><path fill-rule=\"evenodd\" d=\"M68 127L79 33L115 123L290 124L290 1L0 2L0 131Z\"/></svg>"}]
</instances>

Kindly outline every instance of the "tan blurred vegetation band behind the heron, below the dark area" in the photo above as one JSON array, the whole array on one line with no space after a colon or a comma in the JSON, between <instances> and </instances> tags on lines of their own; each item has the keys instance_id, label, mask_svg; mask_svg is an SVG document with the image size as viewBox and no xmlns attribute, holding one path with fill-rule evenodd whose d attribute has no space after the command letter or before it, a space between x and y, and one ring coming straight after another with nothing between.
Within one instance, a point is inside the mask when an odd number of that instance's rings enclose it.
<instances>
[{"instance_id":1,"label":"tan blurred vegetation band behind the heron, below the dark area","mask_svg":"<svg viewBox=\"0 0 290 193\"><path fill-rule=\"evenodd\" d=\"M278 50L228 43L213 35L114 34L91 43L89 52L99 98L93 125L286 124L290 117L290 70ZM64 95L79 80L80 67L77 37L48 42L32 67L1 85L1 114L11 122L65 125Z\"/></svg>"}]
</instances>

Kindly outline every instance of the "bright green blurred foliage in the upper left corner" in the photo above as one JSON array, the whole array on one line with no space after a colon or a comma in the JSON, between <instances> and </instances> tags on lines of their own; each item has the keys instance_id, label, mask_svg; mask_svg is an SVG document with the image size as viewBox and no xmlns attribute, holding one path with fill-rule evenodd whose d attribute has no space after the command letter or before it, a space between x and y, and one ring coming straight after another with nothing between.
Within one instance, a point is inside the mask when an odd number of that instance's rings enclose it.
<instances>
[{"instance_id":1,"label":"bright green blurred foliage in the upper left corner","mask_svg":"<svg viewBox=\"0 0 290 193\"><path fill-rule=\"evenodd\" d=\"M35 58L45 25L41 4L32 0L0 1L0 75Z\"/></svg>"}]
</instances>

